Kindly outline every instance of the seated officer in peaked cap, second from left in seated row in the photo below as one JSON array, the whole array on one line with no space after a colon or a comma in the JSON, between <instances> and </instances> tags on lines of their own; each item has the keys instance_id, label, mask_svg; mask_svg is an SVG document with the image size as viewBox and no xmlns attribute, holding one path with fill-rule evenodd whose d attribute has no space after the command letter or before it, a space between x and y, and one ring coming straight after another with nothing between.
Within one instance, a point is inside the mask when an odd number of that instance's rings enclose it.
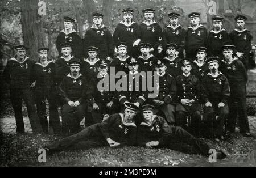
<instances>
[{"instance_id":1,"label":"seated officer in peaked cap, second from left in seated row","mask_svg":"<svg viewBox=\"0 0 256 178\"><path fill-rule=\"evenodd\" d=\"M86 113L86 126L101 122L103 116L108 117L119 111L115 92L110 91L111 77L108 74L108 65L106 60L98 62L98 76L89 82L87 99L91 112Z\"/></svg>"}]
</instances>

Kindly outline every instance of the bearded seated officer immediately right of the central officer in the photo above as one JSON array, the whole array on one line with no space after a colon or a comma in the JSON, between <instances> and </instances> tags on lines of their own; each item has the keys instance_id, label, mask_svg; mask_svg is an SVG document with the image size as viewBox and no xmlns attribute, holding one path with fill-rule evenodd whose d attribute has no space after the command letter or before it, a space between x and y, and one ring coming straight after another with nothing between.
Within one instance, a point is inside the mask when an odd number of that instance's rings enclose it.
<instances>
[{"instance_id":1,"label":"bearded seated officer immediately right of the central officer","mask_svg":"<svg viewBox=\"0 0 256 178\"><path fill-rule=\"evenodd\" d=\"M174 124L174 112L176 101L176 81L175 78L166 73L166 60L158 60L154 63L159 79L158 97L148 98L150 103L155 105L154 114L162 112L168 124ZM155 76L153 75L153 78Z\"/></svg>"}]
</instances>

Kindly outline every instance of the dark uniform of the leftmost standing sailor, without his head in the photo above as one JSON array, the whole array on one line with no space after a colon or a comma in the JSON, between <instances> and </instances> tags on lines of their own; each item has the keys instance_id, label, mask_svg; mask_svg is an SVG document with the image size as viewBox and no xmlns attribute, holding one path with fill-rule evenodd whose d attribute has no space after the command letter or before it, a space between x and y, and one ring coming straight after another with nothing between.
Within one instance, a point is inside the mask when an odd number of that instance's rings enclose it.
<instances>
[{"instance_id":1,"label":"dark uniform of the leftmost standing sailor, without his head","mask_svg":"<svg viewBox=\"0 0 256 178\"><path fill-rule=\"evenodd\" d=\"M16 120L16 132L24 133L24 122L22 115L22 99L27 105L28 118L30 120L33 133L42 132L42 127L36 114L35 101L33 93L30 88L32 82L31 70L34 66L34 62L25 57L23 62L16 60L16 56L11 58L3 71L3 79L10 86L10 98L13 105L15 120Z\"/></svg>"}]
</instances>

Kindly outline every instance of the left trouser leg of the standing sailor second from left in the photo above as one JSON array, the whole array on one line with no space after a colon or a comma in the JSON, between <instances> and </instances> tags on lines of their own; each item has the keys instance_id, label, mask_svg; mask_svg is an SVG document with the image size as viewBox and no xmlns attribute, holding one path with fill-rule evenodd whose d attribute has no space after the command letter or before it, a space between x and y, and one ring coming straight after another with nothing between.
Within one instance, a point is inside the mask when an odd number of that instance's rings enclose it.
<instances>
[{"instance_id":1,"label":"left trouser leg of the standing sailor second from left","mask_svg":"<svg viewBox=\"0 0 256 178\"><path fill-rule=\"evenodd\" d=\"M44 88L38 88L35 91L36 109L38 111L38 118L42 126L43 132L48 133L48 120L46 116L46 96L44 94Z\"/></svg>"}]
</instances>

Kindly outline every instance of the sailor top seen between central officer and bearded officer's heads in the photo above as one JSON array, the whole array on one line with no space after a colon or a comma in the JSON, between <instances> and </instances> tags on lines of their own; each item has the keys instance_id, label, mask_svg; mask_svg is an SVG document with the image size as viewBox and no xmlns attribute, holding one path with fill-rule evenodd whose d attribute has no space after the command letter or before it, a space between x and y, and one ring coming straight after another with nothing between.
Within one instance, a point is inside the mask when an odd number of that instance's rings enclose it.
<instances>
[{"instance_id":1,"label":"sailor top seen between central officer and bearded officer's heads","mask_svg":"<svg viewBox=\"0 0 256 178\"><path fill-rule=\"evenodd\" d=\"M139 71L152 71L152 73L155 71L154 63L156 60L158 60L158 58L156 58L154 55L150 54L147 60L144 60L142 56L139 56L137 60L139 64Z\"/></svg>"}]
</instances>

